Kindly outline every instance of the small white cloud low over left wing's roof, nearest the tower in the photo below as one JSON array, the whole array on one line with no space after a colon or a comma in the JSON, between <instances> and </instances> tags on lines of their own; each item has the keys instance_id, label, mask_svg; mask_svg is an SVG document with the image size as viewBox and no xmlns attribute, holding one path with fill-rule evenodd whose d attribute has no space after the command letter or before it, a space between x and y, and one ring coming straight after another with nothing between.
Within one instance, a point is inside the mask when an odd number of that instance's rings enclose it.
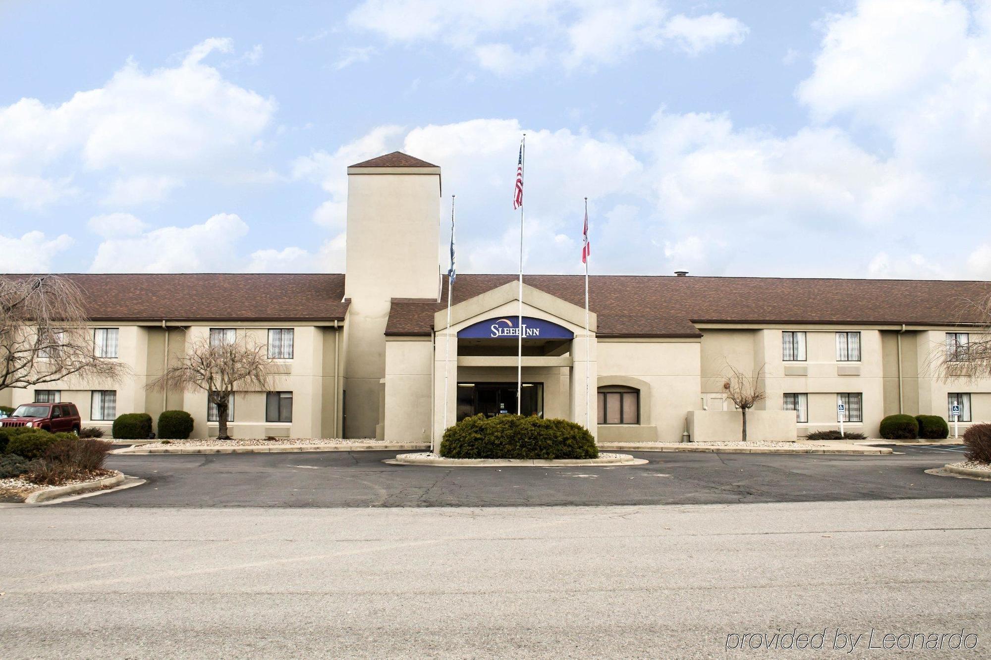
<instances>
[{"instance_id":1,"label":"small white cloud low over left wing's roof, nearest the tower","mask_svg":"<svg viewBox=\"0 0 991 660\"><path fill-rule=\"evenodd\" d=\"M92 273L224 273L242 270L237 242L248 225L231 213L218 213L189 227L163 227L100 244Z\"/></svg>"}]
</instances>

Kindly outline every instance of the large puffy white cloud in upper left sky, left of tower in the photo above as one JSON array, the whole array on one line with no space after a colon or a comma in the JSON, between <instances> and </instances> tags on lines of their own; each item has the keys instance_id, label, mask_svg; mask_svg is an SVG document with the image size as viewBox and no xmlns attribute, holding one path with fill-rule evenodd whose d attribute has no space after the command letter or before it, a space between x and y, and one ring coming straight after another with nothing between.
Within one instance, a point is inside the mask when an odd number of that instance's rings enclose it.
<instances>
[{"instance_id":1,"label":"large puffy white cloud in upper left sky, left of tower","mask_svg":"<svg viewBox=\"0 0 991 660\"><path fill-rule=\"evenodd\" d=\"M204 63L231 49L208 39L177 66L146 71L129 60L102 87L61 104L0 106L0 196L44 206L73 192L73 175L96 174L111 179L110 201L139 203L190 176L250 172L275 101Z\"/></svg>"}]
</instances>

